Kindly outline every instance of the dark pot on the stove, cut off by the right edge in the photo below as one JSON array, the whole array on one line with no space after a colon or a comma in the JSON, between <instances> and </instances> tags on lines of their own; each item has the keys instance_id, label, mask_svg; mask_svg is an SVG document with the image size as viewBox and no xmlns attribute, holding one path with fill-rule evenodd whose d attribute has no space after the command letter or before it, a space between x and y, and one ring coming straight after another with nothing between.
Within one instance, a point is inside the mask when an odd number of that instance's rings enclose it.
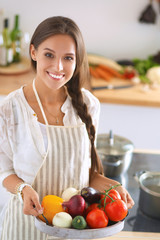
<instances>
[{"instance_id":1,"label":"dark pot on the stove, cut off by the right edge","mask_svg":"<svg viewBox=\"0 0 160 240\"><path fill-rule=\"evenodd\" d=\"M160 172L141 171L135 173L139 182L139 208L152 218L160 219Z\"/></svg>"}]
</instances>

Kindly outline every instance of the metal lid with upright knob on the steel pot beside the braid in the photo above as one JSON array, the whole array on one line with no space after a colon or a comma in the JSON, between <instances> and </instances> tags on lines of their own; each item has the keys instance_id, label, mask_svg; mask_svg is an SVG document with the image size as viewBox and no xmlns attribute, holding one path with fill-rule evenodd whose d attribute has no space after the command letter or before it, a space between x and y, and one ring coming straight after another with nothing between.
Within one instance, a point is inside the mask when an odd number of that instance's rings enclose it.
<instances>
[{"instance_id":1,"label":"metal lid with upright knob on the steel pot beside the braid","mask_svg":"<svg viewBox=\"0 0 160 240\"><path fill-rule=\"evenodd\" d=\"M133 151L133 143L127 138L113 135L112 131L109 134L98 134L97 150L103 154L120 155L128 151Z\"/></svg>"}]
</instances>

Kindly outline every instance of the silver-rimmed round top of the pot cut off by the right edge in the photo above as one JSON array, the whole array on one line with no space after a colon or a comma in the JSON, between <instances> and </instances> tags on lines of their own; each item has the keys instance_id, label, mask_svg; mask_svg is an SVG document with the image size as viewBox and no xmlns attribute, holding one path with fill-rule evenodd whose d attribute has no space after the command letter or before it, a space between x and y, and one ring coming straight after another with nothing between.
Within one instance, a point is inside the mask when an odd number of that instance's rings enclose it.
<instances>
[{"instance_id":1,"label":"silver-rimmed round top of the pot cut off by the right edge","mask_svg":"<svg viewBox=\"0 0 160 240\"><path fill-rule=\"evenodd\" d=\"M160 172L143 173L139 182L144 191L160 197Z\"/></svg>"}]
</instances>

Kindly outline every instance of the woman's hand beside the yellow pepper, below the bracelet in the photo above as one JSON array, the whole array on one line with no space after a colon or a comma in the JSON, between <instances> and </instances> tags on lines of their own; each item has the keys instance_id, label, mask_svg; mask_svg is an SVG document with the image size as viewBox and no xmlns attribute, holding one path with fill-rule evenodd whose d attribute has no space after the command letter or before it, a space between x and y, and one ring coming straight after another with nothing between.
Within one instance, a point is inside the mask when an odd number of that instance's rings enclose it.
<instances>
[{"instance_id":1,"label":"woman's hand beside the yellow pepper, below the bracelet","mask_svg":"<svg viewBox=\"0 0 160 240\"><path fill-rule=\"evenodd\" d=\"M43 208L39 203L38 193L31 187L25 186L23 194L23 213L37 217L43 213Z\"/></svg>"}]
</instances>

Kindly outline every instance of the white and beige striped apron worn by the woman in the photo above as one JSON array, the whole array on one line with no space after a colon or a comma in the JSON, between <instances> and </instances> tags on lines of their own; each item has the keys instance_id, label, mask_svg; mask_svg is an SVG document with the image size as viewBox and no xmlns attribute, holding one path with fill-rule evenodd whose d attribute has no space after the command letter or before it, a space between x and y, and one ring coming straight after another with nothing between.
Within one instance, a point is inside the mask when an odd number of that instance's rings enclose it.
<instances>
[{"instance_id":1,"label":"white and beige striped apron worn by the woman","mask_svg":"<svg viewBox=\"0 0 160 240\"><path fill-rule=\"evenodd\" d=\"M46 157L32 184L41 202L45 195L61 197L62 192L68 187L82 189L89 185L90 144L83 123L77 126L48 125L34 82L33 89L46 123L48 136ZM46 239L52 238L35 227L33 216L23 214L23 205L14 195L5 213L1 240Z\"/></svg>"}]
</instances>

